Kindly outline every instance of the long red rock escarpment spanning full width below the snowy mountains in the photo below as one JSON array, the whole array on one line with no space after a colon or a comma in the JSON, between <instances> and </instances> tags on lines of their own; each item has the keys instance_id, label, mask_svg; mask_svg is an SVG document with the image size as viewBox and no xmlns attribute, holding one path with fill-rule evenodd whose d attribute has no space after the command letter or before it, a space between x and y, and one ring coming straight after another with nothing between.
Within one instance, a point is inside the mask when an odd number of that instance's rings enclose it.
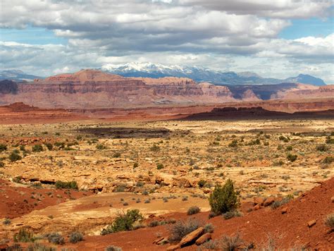
<instances>
[{"instance_id":1,"label":"long red rock escarpment spanning full width below the snowy mountains","mask_svg":"<svg viewBox=\"0 0 334 251\"><path fill-rule=\"evenodd\" d=\"M46 109L118 109L328 97L334 97L331 86L290 82L222 86L197 83L190 78L125 78L96 70L55 75L32 83L0 82L0 105L23 102Z\"/></svg>"}]
</instances>

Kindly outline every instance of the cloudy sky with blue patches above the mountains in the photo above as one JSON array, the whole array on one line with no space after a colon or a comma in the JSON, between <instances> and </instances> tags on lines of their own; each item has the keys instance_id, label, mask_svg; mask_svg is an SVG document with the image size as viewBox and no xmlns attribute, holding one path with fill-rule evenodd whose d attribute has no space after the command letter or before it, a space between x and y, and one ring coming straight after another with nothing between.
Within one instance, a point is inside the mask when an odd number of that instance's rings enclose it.
<instances>
[{"instance_id":1,"label":"cloudy sky with blue patches above the mountains","mask_svg":"<svg viewBox=\"0 0 334 251\"><path fill-rule=\"evenodd\" d=\"M334 84L331 0L1 0L0 69L132 61Z\"/></svg>"}]
</instances>

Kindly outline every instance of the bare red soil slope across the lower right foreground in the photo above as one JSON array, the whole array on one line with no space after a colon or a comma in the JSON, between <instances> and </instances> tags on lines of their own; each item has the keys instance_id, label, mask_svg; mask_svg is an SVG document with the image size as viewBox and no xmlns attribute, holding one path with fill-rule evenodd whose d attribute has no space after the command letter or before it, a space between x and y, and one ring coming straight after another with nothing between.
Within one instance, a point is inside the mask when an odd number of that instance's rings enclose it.
<instances>
[{"instance_id":1,"label":"bare red soil slope across the lower right foreground","mask_svg":"<svg viewBox=\"0 0 334 251\"><path fill-rule=\"evenodd\" d=\"M309 247L312 250L334 250L334 232L325 226L324 217L334 212L334 178L323 182L311 191L304 193L288 204L287 213L281 209L270 207L250 212L245 216L224 220L217 216L208 220L209 212L196 214L194 217L215 226L213 239L223 235L240 233L246 243L254 243L255 247L266 245L268 235L276 241L276 249L289 247ZM168 218L187 219L186 214L170 214ZM316 224L309 228L307 223L316 220ZM108 245L122 247L123 250L166 250L168 245L154 245L156 235L168 236L166 226L142 228L137 231L114 233L104 236L87 236L76 245L78 250L104 250ZM183 250L194 250L195 246L185 247Z\"/></svg>"}]
</instances>

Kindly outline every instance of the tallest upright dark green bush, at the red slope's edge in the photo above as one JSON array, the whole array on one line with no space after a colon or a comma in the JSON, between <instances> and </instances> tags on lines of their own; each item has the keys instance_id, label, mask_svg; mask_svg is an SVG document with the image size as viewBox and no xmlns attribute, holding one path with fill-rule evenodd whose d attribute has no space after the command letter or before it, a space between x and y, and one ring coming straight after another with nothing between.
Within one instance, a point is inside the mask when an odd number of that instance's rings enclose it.
<instances>
[{"instance_id":1,"label":"tallest upright dark green bush, at the red slope's edge","mask_svg":"<svg viewBox=\"0 0 334 251\"><path fill-rule=\"evenodd\" d=\"M238 201L233 181L230 179L226 180L223 187L216 185L216 188L211 192L209 197L209 203L211 211L215 214L224 214L225 212L237 209Z\"/></svg>"}]
</instances>

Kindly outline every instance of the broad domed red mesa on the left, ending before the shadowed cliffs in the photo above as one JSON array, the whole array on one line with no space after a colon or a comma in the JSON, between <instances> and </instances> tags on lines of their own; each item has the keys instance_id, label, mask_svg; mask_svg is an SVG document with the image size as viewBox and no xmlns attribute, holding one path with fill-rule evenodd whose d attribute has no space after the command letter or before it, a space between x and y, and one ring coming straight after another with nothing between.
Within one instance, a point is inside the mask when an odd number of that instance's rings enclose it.
<instances>
[{"instance_id":1,"label":"broad domed red mesa on the left, ending before the shadowed cliffs","mask_svg":"<svg viewBox=\"0 0 334 251\"><path fill-rule=\"evenodd\" d=\"M56 75L33 83L11 82L11 85L4 85L0 95L0 104L23 102L49 109L123 108L234 100L226 87L204 87L189 79L162 78L152 81L92 70Z\"/></svg>"}]
</instances>

